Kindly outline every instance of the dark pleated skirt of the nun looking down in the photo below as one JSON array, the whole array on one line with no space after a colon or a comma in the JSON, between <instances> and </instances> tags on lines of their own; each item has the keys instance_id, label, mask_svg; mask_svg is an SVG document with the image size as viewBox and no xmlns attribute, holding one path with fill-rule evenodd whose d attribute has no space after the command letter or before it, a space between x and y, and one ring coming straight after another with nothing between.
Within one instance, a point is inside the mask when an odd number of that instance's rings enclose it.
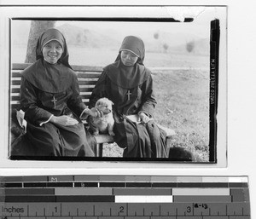
<instances>
[{"instance_id":1,"label":"dark pleated skirt of the nun looking down","mask_svg":"<svg viewBox=\"0 0 256 219\"><path fill-rule=\"evenodd\" d=\"M124 158L167 158L166 132L154 121L136 124L115 117L114 140L125 148Z\"/></svg>"}]
</instances>

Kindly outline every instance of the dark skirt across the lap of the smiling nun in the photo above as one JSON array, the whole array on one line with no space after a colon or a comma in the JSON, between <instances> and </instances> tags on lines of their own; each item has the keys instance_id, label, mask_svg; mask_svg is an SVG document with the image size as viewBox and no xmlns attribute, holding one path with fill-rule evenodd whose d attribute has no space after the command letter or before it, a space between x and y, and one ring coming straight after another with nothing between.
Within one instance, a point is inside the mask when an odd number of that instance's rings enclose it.
<instances>
[{"instance_id":1,"label":"dark skirt across the lap of the smiling nun","mask_svg":"<svg viewBox=\"0 0 256 219\"><path fill-rule=\"evenodd\" d=\"M84 124L63 126L47 123L42 126L28 124L26 135L13 147L12 155L20 156L65 156L94 157L89 145L92 136L87 136Z\"/></svg>"}]
</instances>

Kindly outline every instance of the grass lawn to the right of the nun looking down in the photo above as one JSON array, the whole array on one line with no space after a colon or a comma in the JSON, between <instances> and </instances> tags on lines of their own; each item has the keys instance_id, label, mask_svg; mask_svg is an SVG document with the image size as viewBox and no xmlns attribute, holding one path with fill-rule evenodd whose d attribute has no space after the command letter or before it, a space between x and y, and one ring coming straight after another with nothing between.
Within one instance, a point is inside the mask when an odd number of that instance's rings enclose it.
<instances>
[{"instance_id":1,"label":"grass lawn to the right of the nun looking down","mask_svg":"<svg viewBox=\"0 0 256 219\"><path fill-rule=\"evenodd\" d=\"M172 128L174 147L195 153L197 161L208 161L209 79L207 72L173 71L154 74L158 105L157 123ZM164 89L163 89L164 88Z\"/></svg>"}]
</instances>

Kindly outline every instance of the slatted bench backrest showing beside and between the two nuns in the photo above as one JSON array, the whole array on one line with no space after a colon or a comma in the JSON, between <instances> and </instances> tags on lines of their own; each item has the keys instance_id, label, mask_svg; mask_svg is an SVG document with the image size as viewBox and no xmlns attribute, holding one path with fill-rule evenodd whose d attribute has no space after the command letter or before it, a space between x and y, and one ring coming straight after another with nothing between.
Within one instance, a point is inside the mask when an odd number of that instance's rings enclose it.
<instances>
[{"instance_id":1,"label":"slatted bench backrest showing beside and between the two nuns","mask_svg":"<svg viewBox=\"0 0 256 219\"><path fill-rule=\"evenodd\" d=\"M23 71L29 63L14 63L12 65L12 73L10 80L10 104L11 108L20 107L20 72ZM79 89L82 100L87 105L90 94L95 87L96 81L102 74L101 66L72 66L73 71L77 73L79 80Z\"/></svg>"}]
</instances>

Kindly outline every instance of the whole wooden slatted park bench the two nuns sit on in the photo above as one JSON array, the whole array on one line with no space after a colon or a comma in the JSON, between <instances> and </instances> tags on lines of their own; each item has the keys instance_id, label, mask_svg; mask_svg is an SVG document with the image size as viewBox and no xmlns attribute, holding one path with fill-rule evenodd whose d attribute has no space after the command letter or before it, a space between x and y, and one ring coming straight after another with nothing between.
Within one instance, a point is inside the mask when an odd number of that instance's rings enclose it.
<instances>
[{"instance_id":1,"label":"whole wooden slatted park bench the two nuns sit on","mask_svg":"<svg viewBox=\"0 0 256 219\"><path fill-rule=\"evenodd\" d=\"M14 63L12 65L11 84L10 84L10 104L11 109L19 109L20 106L20 72L24 70L28 63ZM95 87L96 81L102 73L100 66L72 66L73 71L77 73L79 79L80 95L86 105L88 105L90 94ZM84 125L86 122L84 121ZM160 125L159 125L160 126ZM171 145L172 135L175 135L174 130L167 129L160 126L161 129L166 130L166 144ZM102 157L103 144L113 143L113 137L110 135L95 135L97 146L95 149L96 157Z\"/></svg>"}]
</instances>

